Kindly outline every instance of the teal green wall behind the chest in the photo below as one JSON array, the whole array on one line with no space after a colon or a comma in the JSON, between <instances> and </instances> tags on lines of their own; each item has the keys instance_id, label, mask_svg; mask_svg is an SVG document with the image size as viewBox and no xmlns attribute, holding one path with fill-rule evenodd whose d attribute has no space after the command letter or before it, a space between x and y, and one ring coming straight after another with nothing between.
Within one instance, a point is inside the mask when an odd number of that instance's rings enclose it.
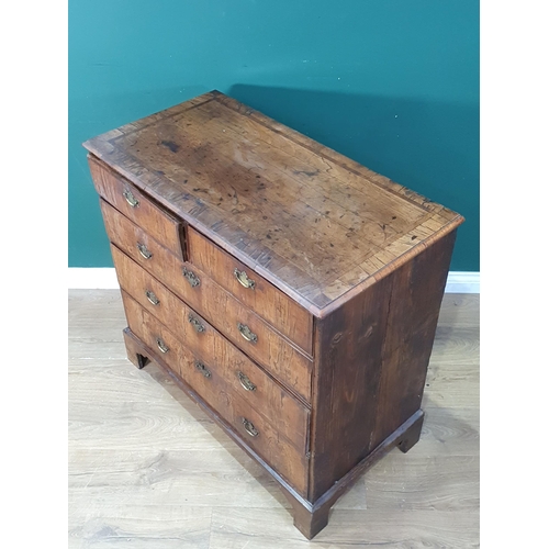
<instances>
[{"instance_id":1,"label":"teal green wall behind the chest","mask_svg":"<svg viewBox=\"0 0 549 549\"><path fill-rule=\"evenodd\" d=\"M69 266L112 266L81 143L219 89L466 216L479 270L478 0L72 0Z\"/></svg>"}]
</instances>

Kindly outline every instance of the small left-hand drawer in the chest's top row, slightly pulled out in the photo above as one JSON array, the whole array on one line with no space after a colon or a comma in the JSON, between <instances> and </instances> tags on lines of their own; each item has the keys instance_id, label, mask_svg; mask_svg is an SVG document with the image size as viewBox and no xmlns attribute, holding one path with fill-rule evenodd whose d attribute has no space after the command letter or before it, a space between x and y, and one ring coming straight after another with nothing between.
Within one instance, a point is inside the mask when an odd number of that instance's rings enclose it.
<instances>
[{"instance_id":1,"label":"small left-hand drawer in the chest's top row, slightly pulled out","mask_svg":"<svg viewBox=\"0 0 549 549\"><path fill-rule=\"evenodd\" d=\"M172 254L184 259L182 222L92 157L89 158L89 165L96 189L104 200L163 243Z\"/></svg>"}]
</instances>

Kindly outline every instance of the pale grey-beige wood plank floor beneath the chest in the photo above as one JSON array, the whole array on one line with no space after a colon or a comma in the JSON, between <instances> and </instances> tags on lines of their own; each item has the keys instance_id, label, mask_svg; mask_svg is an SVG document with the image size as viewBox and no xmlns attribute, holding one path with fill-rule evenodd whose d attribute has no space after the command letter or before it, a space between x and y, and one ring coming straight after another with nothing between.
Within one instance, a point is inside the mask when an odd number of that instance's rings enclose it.
<instances>
[{"instance_id":1,"label":"pale grey-beige wood plank floor beneath the chest","mask_svg":"<svg viewBox=\"0 0 549 549\"><path fill-rule=\"evenodd\" d=\"M69 291L69 548L479 547L479 295L445 295L422 439L307 541L273 481L155 365L125 357L117 290Z\"/></svg>"}]
</instances>

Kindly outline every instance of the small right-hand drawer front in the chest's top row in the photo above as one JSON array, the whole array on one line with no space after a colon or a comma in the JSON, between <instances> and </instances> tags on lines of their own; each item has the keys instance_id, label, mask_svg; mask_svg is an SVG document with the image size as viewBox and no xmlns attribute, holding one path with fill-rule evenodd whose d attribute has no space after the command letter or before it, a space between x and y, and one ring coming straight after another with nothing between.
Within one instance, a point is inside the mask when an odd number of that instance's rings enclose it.
<instances>
[{"instance_id":1,"label":"small right-hand drawer front in the chest's top row","mask_svg":"<svg viewBox=\"0 0 549 549\"><path fill-rule=\"evenodd\" d=\"M189 261L312 356L313 317L285 293L189 227Z\"/></svg>"}]
</instances>

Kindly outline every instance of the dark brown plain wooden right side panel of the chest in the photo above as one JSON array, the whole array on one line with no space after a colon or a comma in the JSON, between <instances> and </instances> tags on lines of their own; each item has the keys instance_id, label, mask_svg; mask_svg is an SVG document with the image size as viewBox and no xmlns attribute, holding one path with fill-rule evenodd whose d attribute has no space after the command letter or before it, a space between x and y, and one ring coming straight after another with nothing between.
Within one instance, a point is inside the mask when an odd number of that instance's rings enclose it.
<instances>
[{"instance_id":1,"label":"dark brown plain wooden right side panel of the chest","mask_svg":"<svg viewBox=\"0 0 549 549\"><path fill-rule=\"evenodd\" d=\"M419 410L455 237L317 323L311 502Z\"/></svg>"}]
</instances>

